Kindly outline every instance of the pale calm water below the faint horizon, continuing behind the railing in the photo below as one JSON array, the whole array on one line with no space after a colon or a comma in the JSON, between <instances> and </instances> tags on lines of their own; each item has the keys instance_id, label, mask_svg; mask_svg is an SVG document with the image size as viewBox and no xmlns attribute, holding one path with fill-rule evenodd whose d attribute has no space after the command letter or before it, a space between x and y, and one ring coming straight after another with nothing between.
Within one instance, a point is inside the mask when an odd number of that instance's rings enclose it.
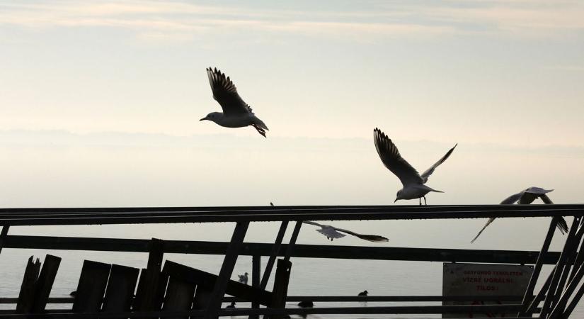
<instances>
[{"instance_id":1,"label":"pale calm water below the faint horizon, continuing behind the railing","mask_svg":"<svg viewBox=\"0 0 584 319\"><path fill-rule=\"evenodd\" d=\"M429 182L445 193L430 194L428 203L495 204L527 186L555 189L550 197L556 203L582 202L584 152L580 147L525 146L523 140L517 143L520 145L461 143ZM399 147L414 167L425 169L452 143L403 140ZM173 137L8 130L0 131L0 176L0 207L4 208L267 206L270 201L276 205L387 205L401 187L399 180L379 161L369 138L258 139L233 135ZM327 222L357 233L384 235L389 242L372 244L348 236L331 243L309 225L303 226L298 242L539 250L549 225L548 218L496 220L471 245L469 241L485 222ZM13 227L10 234L224 242L230 240L233 227L231 223ZM246 241L273 242L277 228L275 223L253 223ZM561 250L563 238L556 235L552 250ZM47 253L62 257L52 290L55 297L68 296L76 288L84 259L140 268L147 260L147 254L139 253L5 249L0 254L0 296L18 296L28 257L43 259ZM218 272L222 262L219 256L167 254L166 258L212 273ZM365 289L373 296L442 292L440 262L297 258L292 262L290 295L355 296ZM251 257L238 259L234 273L244 272L251 273ZM582 317L582 308L578 311Z\"/></svg>"}]
</instances>

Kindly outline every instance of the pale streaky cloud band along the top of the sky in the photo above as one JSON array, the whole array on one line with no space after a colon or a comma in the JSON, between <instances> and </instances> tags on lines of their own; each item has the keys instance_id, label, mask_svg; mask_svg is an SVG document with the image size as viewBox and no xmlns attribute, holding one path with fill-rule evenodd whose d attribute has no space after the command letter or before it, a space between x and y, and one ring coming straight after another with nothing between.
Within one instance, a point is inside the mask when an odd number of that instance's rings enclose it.
<instances>
[{"instance_id":1,"label":"pale streaky cloud band along the top of the sky","mask_svg":"<svg viewBox=\"0 0 584 319\"><path fill-rule=\"evenodd\" d=\"M564 35L584 30L579 1L391 1L363 4L357 11L300 11L202 6L176 1L0 4L0 25L27 28L98 26L134 30L139 38L241 30L299 33L338 38L435 36L455 33Z\"/></svg>"}]
</instances>

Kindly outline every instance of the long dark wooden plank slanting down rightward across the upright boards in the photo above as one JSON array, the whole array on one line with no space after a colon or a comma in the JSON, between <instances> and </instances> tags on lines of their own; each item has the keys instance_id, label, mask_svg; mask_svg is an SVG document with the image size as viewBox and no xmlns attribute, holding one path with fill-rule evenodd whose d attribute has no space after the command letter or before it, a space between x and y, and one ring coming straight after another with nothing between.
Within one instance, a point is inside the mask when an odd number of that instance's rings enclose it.
<instances>
[{"instance_id":1,"label":"long dark wooden plank slanting down rightward across the upright boards","mask_svg":"<svg viewBox=\"0 0 584 319\"><path fill-rule=\"evenodd\" d=\"M197 285L197 290L199 289L199 286L202 286L203 289L211 291L217 280L217 276L214 274L203 272L202 270L194 269L176 262L171 262L170 260L164 262L162 272L170 274L177 279ZM272 302L272 293L270 291L241 284L241 282L234 280L228 282L225 293L231 296L244 298L247 301L258 301L263 306L270 306Z\"/></svg>"}]
</instances>

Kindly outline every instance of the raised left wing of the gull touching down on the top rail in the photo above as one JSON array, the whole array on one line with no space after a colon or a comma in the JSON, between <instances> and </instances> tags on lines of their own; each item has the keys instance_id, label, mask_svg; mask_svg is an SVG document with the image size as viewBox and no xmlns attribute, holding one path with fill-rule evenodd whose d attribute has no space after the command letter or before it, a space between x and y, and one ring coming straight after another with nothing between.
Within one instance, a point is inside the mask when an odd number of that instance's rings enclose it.
<instances>
[{"instance_id":1,"label":"raised left wing of the gull touching down on the top rail","mask_svg":"<svg viewBox=\"0 0 584 319\"><path fill-rule=\"evenodd\" d=\"M383 164L392 173L396 174L403 186L423 184L423 179L418 171L399 155L396 145L379 128L373 130L373 140L377 154L379 154Z\"/></svg>"}]
</instances>

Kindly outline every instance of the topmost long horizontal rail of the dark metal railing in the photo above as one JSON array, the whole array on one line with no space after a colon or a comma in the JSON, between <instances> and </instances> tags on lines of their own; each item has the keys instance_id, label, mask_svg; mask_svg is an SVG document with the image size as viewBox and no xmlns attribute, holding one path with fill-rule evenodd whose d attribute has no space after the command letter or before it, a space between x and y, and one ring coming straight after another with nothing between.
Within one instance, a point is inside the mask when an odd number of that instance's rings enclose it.
<instances>
[{"instance_id":1,"label":"topmost long horizontal rail of the dark metal railing","mask_svg":"<svg viewBox=\"0 0 584 319\"><path fill-rule=\"evenodd\" d=\"M278 206L210 208L2 208L0 225L213 223L575 216L584 205Z\"/></svg>"}]
</instances>

